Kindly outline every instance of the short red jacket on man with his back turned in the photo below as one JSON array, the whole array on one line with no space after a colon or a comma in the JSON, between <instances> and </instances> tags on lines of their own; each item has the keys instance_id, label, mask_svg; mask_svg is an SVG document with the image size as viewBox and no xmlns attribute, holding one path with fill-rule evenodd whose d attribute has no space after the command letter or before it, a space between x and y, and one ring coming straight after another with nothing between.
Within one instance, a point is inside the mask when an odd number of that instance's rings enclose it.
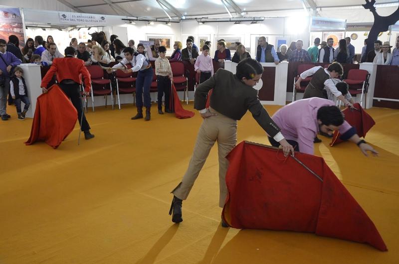
<instances>
[{"instance_id":1,"label":"short red jacket on man with his back turned","mask_svg":"<svg viewBox=\"0 0 399 264\"><path fill-rule=\"evenodd\" d=\"M82 83L83 75L85 90L86 92L90 92L90 73L84 65L83 60L72 57L55 58L51 68L48 70L43 80L41 80L40 87L47 87L48 82L51 81L54 74L57 74L58 83L65 79L71 79L78 84Z\"/></svg>"}]
</instances>

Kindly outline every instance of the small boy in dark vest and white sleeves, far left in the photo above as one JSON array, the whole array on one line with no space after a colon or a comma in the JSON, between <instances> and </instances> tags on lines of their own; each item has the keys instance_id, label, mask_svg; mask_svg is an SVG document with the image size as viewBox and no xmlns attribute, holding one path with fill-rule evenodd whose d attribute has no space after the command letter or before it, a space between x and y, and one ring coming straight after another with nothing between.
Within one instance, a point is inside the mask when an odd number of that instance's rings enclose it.
<instances>
[{"instance_id":1,"label":"small boy in dark vest and white sleeves, far left","mask_svg":"<svg viewBox=\"0 0 399 264\"><path fill-rule=\"evenodd\" d=\"M23 79L22 74L23 70L20 67L15 67L15 76L13 76L9 82L9 88L12 99L14 99L16 113L18 114L18 120L25 120L25 114L28 111L30 105L25 79ZM23 112L21 112L21 101L25 104Z\"/></svg>"}]
</instances>

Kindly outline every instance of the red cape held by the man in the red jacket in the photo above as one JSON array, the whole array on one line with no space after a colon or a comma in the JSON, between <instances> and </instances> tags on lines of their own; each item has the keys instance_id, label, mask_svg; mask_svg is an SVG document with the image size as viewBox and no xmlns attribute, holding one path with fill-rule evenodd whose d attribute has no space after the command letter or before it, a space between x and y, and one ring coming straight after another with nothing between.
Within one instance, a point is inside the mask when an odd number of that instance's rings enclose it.
<instances>
[{"instance_id":1,"label":"red cape held by the man in the red jacket","mask_svg":"<svg viewBox=\"0 0 399 264\"><path fill-rule=\"evenodd\" d=\"M57 148L75 128L77 116L71 101L59 86L54 84L48 93L37 97L30 137L25 144L44 141Z\"/></svg>"}]
</instances>

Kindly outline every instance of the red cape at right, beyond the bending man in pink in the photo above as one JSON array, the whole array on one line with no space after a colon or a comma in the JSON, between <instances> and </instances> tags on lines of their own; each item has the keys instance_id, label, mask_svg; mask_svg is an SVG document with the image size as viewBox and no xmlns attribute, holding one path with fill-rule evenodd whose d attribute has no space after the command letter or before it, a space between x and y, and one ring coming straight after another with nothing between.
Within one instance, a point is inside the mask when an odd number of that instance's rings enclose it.
<instances>
[{"instance_id":1,"label":"red cape at right, beyond the bending man in pink","mask_svg":"<svg viewBox=\"0 0 399 264\"><path fill-rule=\"evenodd\" d=\"M342 111L342 113L344 113L345 120L349 123L349 125L356 128L357 134L360 137L365 137L366 133L369 132L376 122L369 114L366 113L359 103L355 103L353 107L359 109L360 111L351 111L350 108L347 107ZM334 132L333 140L331 141L330 146L344 141L340 137L341 134L339 131Z\"/></svg>"}]
</instances>

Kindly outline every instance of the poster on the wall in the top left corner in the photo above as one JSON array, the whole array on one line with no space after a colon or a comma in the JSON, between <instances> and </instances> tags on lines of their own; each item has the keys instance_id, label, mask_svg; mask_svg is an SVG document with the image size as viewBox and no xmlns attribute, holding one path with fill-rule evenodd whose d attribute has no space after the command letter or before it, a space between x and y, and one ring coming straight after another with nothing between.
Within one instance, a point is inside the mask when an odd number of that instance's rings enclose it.
<instances>
[{"instance_id":1,"label":"poster on the wall in the top left corner","mask_svg":"<svg viewBox=\"0 0 399 264\"><path fill-rule=\"evenodd\" d=\"M8 41L9 35L19 39L19 47L25 45L23 22L19 8L0 6L0 38Z\"/></svg>"}]
</instances>

